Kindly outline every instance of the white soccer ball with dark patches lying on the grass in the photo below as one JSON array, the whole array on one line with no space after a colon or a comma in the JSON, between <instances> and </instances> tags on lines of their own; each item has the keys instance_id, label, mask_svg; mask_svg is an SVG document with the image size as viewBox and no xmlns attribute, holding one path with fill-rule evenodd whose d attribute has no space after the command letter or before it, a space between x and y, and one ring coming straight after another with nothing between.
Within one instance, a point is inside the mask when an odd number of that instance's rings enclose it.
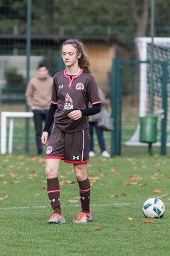
<instances>
[{"instance_id":1,"label":"white soccer ball with dark patches lying on the grass","mask_svg":"<svg viewBox=\"0 0 170 256\"><path fill-rule=\"evenodd\" d=\"M164 216L165 206L159 198L149 198L145 201L142 212L146 218L162 218Z\"/></svg>"}]
</instances>

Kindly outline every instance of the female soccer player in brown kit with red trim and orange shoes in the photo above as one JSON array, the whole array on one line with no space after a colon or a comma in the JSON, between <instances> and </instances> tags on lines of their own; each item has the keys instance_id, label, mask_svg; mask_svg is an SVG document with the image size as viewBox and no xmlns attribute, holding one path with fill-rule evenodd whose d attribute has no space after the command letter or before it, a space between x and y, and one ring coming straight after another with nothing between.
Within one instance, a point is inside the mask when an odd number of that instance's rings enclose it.
<instances>
[{"instance_id":1,"label":"female soccer player in brown kit with red trim and orange shoes","mask_svg":"<svg viewBox=\"0 0 170 256\"><path fill-rule=\"evenodd\" d=\"M54 75L51 105L41 137L42 144L47 145L47 193L54 210L48 223L65 223L58 180L61 160L74 165L74 174L79 183L81 213L73 222L87 223L92 220L91 186L86 170L89 162L88 116L101 111L101 99L83 43L69 39L62 44L61 53L66 69ZM88 108L89 102L91 108ZM47 142L47 131L53 121L54 126Z\"/></svg>"}]
</instances>

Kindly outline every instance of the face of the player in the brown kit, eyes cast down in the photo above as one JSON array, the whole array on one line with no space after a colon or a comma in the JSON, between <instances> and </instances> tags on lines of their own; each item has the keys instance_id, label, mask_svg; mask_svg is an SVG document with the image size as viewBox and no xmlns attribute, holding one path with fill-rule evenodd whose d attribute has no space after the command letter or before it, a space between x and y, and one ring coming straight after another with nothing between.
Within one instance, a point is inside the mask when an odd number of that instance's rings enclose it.
<instances>
[{"instance_id":1,"label":"face of the player in the brown kit, eyes cast down","mask_svg":"<svg viewBox=\"0 0 170 256\"><path fill-rule=\"evenodd\" d=\"M77 50L71 44L62 47L62 59L67 67L78 65L80 54L77 55Z\"/></svg>"}]
</instances>

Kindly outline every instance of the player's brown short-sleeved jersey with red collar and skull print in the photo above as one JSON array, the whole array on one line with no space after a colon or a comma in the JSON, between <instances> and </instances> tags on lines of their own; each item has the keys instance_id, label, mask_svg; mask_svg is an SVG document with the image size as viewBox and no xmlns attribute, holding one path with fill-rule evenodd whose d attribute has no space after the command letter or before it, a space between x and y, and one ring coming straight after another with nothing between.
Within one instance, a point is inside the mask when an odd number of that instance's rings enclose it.
<instances>
[{"instance_id":1,"label":"player's brown short-sleeved jersey with red collar and skull print","mask_svg":"<svg viewBox=\"0 0 170 256\"><path fill-rule=\"evenodd\" d=\"M70 77L66 70L56 73L53 79L52 100L57 104L54 121L66 133L77 132L89 127L88 117L78 120L69 119L73 110L84 110L91 105L101 103L94 77L83 70Z\"/></svg>"}]
</instances>

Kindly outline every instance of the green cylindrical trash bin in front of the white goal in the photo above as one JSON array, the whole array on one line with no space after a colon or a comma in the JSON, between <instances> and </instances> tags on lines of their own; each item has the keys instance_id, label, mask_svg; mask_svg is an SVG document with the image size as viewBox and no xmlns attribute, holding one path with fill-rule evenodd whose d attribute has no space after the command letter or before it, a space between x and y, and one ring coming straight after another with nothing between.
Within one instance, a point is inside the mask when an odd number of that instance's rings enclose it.
<instances>
[{"instance_id":1,"label":"green cylindrical trash bin in front of the white goal","mask_svg":"<svg viewBox=\"0 0 170 256\"><path fill-rule=\"evenodd\" d=\"M140 117L140 142L157 142L157 117Z\"/></svg>"}]
</instances>

